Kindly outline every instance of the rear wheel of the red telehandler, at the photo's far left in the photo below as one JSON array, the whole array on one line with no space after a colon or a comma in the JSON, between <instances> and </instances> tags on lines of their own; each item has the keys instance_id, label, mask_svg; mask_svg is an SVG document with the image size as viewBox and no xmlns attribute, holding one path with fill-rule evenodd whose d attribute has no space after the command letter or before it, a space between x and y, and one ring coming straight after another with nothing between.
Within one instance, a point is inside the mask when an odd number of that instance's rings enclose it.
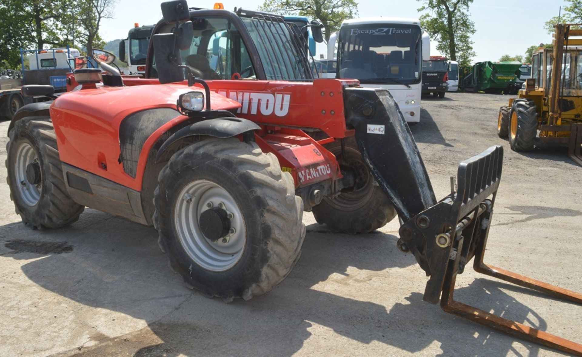
<instances>
[{"instance_id":1,"label":"rear wheel of the red telehandler, at the photo's far left","mask_svg":"<svg viewBox=\"0 0 582 357\"><path fill-rule=\"evenodd\" d=\"M10 130L6 144L10 199L25 226L51 229L69 226L84 206L70 198L50 117L26 117Z\"/></svg>"}]
</instances>

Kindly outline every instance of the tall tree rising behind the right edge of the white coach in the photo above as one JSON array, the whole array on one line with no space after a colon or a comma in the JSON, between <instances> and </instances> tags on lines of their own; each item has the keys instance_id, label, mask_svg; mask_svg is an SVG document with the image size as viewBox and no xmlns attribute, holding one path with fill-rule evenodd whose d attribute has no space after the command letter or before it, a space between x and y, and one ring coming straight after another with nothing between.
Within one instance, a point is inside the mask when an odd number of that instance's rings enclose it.
<instances>
[{"instance_id":1,"label":"tall tree rising behind the right edge of the white coach","mask_svg":"<svg viewBox=\"0 0 582 357\"><path fill-rule=\"evenodd\" d=\"M437 50L460 66L469 66L473 51L471 35L475 23L469 19L469 5L473 0L417 0L423 3L418 12L428 11L420 17L423 30L438 42Z\"/></svg>"}]
</instances>

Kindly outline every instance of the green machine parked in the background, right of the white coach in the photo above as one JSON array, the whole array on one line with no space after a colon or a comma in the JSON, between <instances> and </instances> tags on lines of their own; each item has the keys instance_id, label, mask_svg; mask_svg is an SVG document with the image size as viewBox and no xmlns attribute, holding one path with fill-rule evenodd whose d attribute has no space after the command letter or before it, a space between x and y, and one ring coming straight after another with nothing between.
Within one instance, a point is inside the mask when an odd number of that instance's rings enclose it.
<instances>
[{"instance_id":1,"label":"green machine parked in the background, right of the white coach","mask_svg":"<svg viewBox=\"0 0 582 357\"><path fill-rule=\"evenodd\" d=\"M517 94L521 83L517 83L521 72L517 61L477 62L471 73L463 78L467 92Z\"/></svg>"}]
</instances>

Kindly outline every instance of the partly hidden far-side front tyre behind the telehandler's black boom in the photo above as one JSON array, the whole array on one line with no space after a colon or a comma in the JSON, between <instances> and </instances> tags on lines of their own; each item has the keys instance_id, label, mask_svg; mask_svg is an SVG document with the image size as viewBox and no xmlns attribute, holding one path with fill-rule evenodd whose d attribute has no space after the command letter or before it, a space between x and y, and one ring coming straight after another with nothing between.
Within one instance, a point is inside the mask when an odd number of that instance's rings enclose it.
<instances>
[{"instance_id":1,"label":"partly hidden far-side front tyre behind the telehandler's black boom","mask_svg":"<svg viewBox=\"0 0 582 357\"><path fill-rule=\"evenodd\" d=\"M319 224L342 233L369 233L385 226L396 217L396 210L368 170L353 138L346 139L346 160L356 172L356 188L343 191L338 197L324 197L313 208L313 216ZM324 145L336 156L342 153L339 141Z\"/></svg>"}]
</instances>

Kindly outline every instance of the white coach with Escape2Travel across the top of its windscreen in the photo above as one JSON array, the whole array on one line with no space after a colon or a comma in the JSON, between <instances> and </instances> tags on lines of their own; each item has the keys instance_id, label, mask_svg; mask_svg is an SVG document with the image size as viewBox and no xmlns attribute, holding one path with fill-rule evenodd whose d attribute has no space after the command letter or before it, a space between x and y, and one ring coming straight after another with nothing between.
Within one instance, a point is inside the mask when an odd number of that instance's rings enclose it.
<instances>
[{"instance_id":1,"label":"white coach with Escape2Travel across the top of its windscreen","mask_svg":"<svg viewBox=\"0 0 582 357\"><path fill-rule=\"evenodd\" d=\"M368 17L342 22L328 41L335 78L354 78L366 88L390 92L408 123L420 122L422 66L430 59L430 38L418 19Z\"/></svg>"}]
</instances>

